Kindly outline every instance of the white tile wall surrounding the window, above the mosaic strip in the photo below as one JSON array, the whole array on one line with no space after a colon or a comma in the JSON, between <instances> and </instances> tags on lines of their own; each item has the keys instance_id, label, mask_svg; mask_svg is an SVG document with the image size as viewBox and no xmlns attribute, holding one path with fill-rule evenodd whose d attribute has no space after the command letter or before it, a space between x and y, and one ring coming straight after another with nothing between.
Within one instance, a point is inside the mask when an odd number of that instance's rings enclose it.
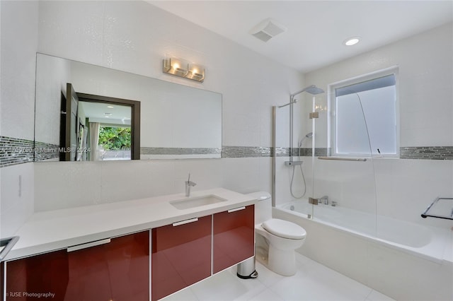
<instances>
[{"instance_id":1,"label":"white tile wall surrounding the window, above the mosaic strip","mask_svg":"<svg viewBox=\"0 0 453 301\"><path fill-rule=\"evenodd\" d=\"M451 146L452 36L453 25L448 23L306 73L306 83L326 90L329 83L397 65L401 146ZM321 124L327 122L320 120ZM327 141L327 132L319 133L319 138Z\"/></svg>"}]
</instances>

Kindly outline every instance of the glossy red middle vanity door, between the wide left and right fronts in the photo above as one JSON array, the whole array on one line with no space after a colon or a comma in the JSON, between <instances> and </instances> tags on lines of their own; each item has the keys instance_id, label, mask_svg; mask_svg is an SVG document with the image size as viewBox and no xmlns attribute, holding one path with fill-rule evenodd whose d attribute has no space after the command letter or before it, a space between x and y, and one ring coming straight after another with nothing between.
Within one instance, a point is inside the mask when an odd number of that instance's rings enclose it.
<instances>
[{"instance_id":1,"label":"glossy red middle vanity door, between the wide left and right fronts","mask_svg":"<svg viewBox=\"0 0 453 301\"><path fill-rule=\"evenodd\" d=\"M211 216L152 230L151 300L211 275Z\"/></svg>"}]
</instances>

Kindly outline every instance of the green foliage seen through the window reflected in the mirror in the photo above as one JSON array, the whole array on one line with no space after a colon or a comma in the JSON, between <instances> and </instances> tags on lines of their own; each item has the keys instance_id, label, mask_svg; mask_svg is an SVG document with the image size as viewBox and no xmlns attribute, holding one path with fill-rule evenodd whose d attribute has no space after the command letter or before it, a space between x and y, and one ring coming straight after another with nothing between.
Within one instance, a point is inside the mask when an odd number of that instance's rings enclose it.
<instances>
[{"instance_id":1,"label":"green foliage seen through the window reflected in the mirror","mask_svg":"<svg viewBox=\"0 0 453 301\"><path fill-rule=\"evenodd\" d=\"M105 150L130 150L130 127L101 126L99 145Z\"/></svg>"}]
</instances>

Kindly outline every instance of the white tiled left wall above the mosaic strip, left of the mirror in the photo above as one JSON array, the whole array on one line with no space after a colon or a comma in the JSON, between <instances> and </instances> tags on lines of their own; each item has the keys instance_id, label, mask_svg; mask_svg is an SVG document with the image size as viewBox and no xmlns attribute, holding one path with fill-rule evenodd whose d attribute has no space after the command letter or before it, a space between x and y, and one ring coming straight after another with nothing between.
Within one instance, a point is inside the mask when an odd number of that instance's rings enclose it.
<instances>
[{"instance_id":1,"label":"white tiled left wall above the mosaic strip, left of the mirror","mask_svg":"<svg viewBox=\"0 0 453 301\"><path fill-rule=\"evenodd\" d=\"M33 140L38 2L1 6L1 135Z\"/></svg>"}]
</instances>

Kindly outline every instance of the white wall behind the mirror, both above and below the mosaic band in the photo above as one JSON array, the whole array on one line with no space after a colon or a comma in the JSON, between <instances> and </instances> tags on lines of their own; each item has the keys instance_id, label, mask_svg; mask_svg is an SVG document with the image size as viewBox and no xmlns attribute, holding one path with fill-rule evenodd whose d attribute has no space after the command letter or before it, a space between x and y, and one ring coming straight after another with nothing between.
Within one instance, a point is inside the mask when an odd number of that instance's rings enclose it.
<instances>
[{"instance_id":1,"label":"white wall behind the mirror, both above and below the mosaic band","mask_svg":"<svg viewBox=\"0 0 453 301\"><path fill-rule=\"evenodd\" d=\"M222 93L222 145L271 146L271 107L304 76L144 1L40 2L38 51ZM204 64L204 83L161 71L166 54ZM36 163L35 210L197 189L271 188L270 158Z\"/></svg>"}]
</instances>

